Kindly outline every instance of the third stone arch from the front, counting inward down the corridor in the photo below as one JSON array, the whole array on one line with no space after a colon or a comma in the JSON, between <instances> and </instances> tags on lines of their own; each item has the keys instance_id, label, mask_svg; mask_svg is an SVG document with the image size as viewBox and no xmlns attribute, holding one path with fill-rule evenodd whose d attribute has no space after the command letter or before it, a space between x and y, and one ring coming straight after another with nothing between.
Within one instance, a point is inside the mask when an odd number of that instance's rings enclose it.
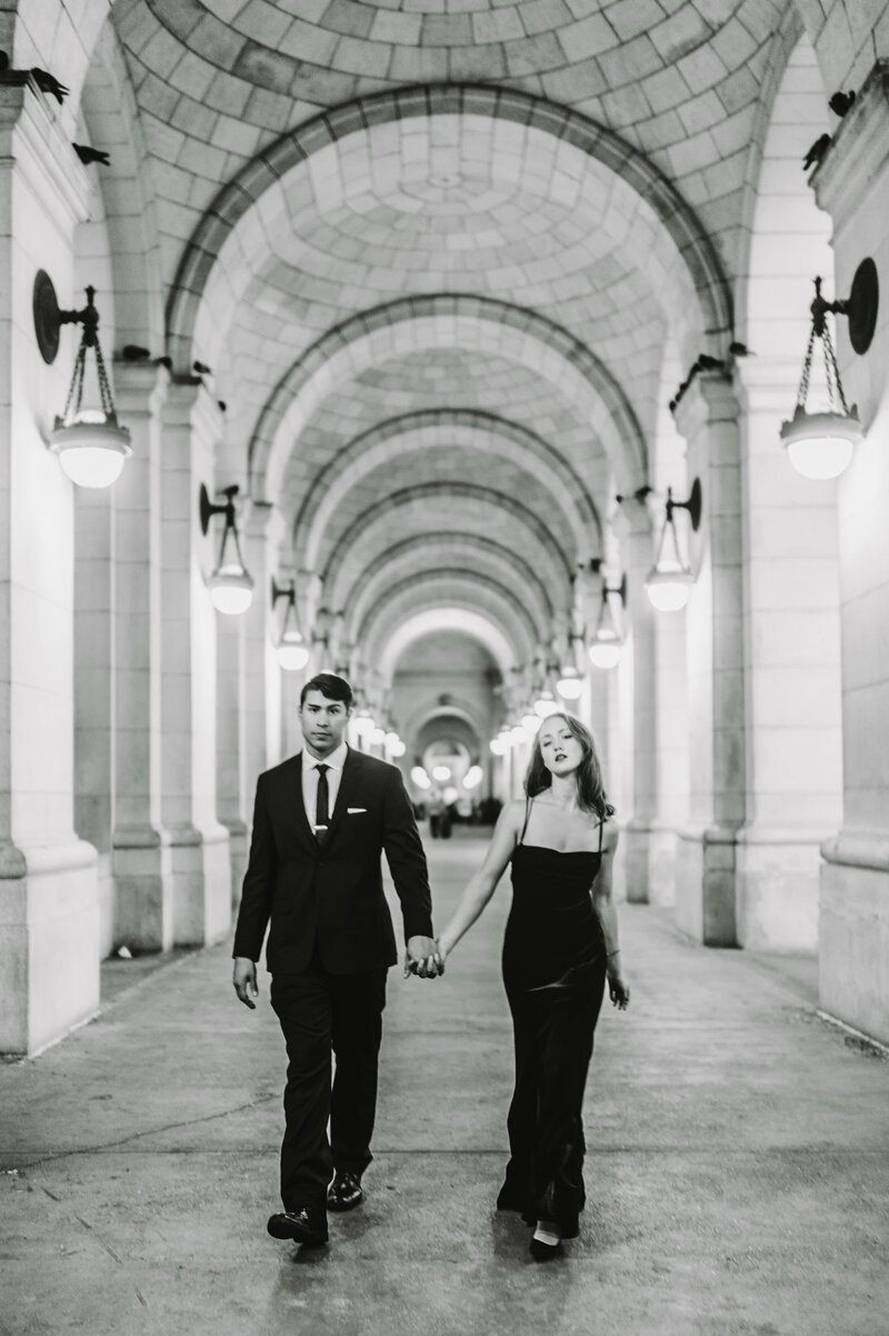
<instances>
[{"instance_id":1,"label":"third stone arch from the front, counting inward down the corridor","mask_svg":"<svg viewBox=\"0 0 889 1336\"><path fill-rule=\"evenodd\" d=\"M402 442L404 453L455 444L506 453L557 496L574 533L579 560L598 554L602 528L595 502L583 478L558 450L527 428L490 413L432 409L407 413L371 428L316 473L294 521L294 560L298 565L315 569L320 536L343 494L392 454L400 453Z\"/></svg>"}]
</instances>

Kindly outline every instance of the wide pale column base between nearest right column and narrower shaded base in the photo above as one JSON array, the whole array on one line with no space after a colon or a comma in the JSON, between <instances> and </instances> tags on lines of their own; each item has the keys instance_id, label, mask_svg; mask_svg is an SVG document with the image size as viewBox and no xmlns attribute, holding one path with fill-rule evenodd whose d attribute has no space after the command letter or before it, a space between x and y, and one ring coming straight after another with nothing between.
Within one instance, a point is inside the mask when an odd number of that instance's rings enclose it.
<instances>
[{"instance_id":1,"label":"wide pale column base between nearest right column and narrower shaded base","mask_svg":"<svg viewBox=\"0 0 889 1336\"><path fill-rule=\"evenodd\" d=\"M738 831L735 922L750 951L818 950L821 831L750 826Z\"/></svg>"}]
</instances>

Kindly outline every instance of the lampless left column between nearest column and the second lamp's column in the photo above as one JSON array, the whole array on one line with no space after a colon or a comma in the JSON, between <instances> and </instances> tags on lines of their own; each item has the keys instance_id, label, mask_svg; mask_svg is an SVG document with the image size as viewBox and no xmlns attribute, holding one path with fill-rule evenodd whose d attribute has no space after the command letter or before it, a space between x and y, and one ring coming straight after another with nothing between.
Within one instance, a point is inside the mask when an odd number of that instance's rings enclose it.
<instances>
[{"instance_id":1,"label":"lampless left column between nearest column and the second lamp's column","mask_svg":"<svg viewBox=\"0 0 889 1336\"><path fill-rule=\"evenodd\" d=\"M132 456L113 492L115 943L166 951L174 941L170 840L160 820L160 449L168 374L120 362L115 397Z\"/></svg>"}]
</instances>

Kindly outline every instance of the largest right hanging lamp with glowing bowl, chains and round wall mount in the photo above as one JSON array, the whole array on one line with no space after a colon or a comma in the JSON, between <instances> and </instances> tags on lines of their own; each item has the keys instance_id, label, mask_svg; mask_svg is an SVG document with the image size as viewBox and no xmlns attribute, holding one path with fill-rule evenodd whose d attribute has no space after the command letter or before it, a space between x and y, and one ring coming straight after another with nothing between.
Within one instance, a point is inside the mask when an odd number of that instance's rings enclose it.
<instances>
[{"instance_id":1,"label":"largest right hanging lamp with glowing bowl, chains and round wall mount","mask_svg":"<svg viewBox=\"0 0 889 1336\"><path fill-rule=\"evenodd\" d=\"M849 407L842 389L837 355L828 327L828 313L849 317L849 339L860 355L870 347L880 306L877 266L864 259L852 281L852 291L845 301L828 302L821 295L821 279L816 278L812 302L812 330L802 362L802 377L797 390L797 405L789 422L781 424L781 440L797 473L804 478L836 478L848 468L852 453L862 437L858 409ZM821 341L828 402L822 411L809 413L809 382L816 339Z\"/></svg>"}]
</instances>

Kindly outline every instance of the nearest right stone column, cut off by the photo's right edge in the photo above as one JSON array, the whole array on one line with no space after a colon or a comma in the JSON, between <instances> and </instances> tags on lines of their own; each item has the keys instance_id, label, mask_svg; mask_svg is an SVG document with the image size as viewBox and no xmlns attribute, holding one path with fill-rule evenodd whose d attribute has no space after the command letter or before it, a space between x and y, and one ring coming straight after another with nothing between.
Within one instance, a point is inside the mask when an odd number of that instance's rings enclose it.
<instances>
[{"instance_id":1,"label":"nearest right stone column, cut off by the photo's right edge","mask_svg":"<svg viewBox=\"0 0 889 1336\"><path fill-rule=\"evenodd\" d=\"M853 353L840 317L844 386L865 440L840 478L842 636L842 826L822 854L821 1002L850 1025L889 1039L889 61L877 63L837 127L813 178L833 218L837 297L860 262L880 275L880 313L868 351Z\"/></svg>"}]
</instances>

